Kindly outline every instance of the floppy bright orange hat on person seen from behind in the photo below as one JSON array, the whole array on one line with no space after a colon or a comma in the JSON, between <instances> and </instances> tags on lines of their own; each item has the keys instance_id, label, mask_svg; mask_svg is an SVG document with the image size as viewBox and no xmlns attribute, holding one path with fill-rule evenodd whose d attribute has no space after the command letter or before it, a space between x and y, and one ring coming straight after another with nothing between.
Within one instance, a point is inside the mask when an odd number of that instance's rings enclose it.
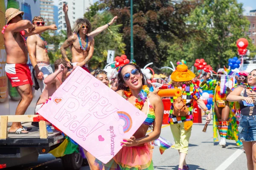
<instances>
[{"instance_id":1,"label":"floppy bright orange hat on person seen from behind","mask_svg":"<svg viewBox=\"0 0 256 170\"><path fill-rule=\"evenodd\" d=\"M171 79L175 82L187 82L195 78L195 74L188 70L188 66L181 64L177 66L177 69L172 73Z\"/></svg>"}]
</instances>

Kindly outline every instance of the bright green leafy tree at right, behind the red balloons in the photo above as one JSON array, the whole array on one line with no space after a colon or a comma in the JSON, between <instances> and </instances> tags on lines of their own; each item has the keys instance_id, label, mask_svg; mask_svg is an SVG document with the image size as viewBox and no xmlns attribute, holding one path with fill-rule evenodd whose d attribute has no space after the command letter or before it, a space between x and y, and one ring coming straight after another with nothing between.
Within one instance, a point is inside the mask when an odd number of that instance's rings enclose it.
<instances>
[{"instance_id":1,"label":"bright green leafy tree at right, behind the red balloons","mask_svg":"<svg viewBox=\"0 0 256 170\"><path fill-rule=\"evenodd\" d=\"M199 32L189 42L191 59L204 58L212 68L227 66L227 60L237 56L236 41L246 36L249 21L243 16L243 8L237 0L204 0L188 17L189 27Z\"/></svg>"}]
</instances>

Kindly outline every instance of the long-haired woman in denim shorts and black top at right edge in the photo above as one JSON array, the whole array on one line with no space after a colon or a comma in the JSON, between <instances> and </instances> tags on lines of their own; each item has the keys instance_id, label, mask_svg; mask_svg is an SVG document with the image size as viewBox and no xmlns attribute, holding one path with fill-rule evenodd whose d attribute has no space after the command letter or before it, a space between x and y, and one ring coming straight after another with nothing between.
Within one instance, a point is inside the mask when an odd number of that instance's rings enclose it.
<instances>
[{"instance_id":1,"label":"long-haired woman in denim shorts and black top at right edge","mask_svg":"<svg viewBox=\"0 0 256 170\"><path fill-rule=\"evenodd\" d=\"M239 139L243 142L248 170L256 169L256 69L250 72L247 83L234 89L228 96L230 102L239 102Z\"/></svg>"}]
</instances>

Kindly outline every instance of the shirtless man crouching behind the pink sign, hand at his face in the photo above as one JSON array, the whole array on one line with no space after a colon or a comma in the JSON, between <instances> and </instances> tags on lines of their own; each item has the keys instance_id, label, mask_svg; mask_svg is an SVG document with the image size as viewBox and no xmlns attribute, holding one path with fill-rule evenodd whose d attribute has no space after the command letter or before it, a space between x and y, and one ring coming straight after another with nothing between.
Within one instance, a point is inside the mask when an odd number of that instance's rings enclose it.
<instances>
[{"instance_id":1,"label":"shirtless man crouching behind the pink sign, hand at his face","mask_svg":"<svg viewBox=\"0 0 256 170\"><path fill-rule=\"evenodd\" d=\"M35 113L38 112L38 110L43 106L43 104L47 102L49 96L52 96L52 94L60 87L62 82L64 82L64 77L66 76L68 69L70 69L67 66L67 61L62 58L57 59L54 62L54 68L55 72L44 78L44 83L46 86L36 104ZM52 128L50 127L51 124L49 122L47 122L46 124L47 132L53 133Z\"/></svg>"}]
</instances>

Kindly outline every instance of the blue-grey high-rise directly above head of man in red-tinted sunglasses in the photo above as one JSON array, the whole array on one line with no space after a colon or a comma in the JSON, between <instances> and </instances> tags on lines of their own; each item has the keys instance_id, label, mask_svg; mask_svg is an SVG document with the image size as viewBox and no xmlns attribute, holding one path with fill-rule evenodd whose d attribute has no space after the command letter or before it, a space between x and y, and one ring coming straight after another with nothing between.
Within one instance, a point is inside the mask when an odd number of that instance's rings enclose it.
<instances>
[{"instance_id":1,"label":"blue-grey high-rise directly above head of man in red-tinted sunglasses","mask_svg":"<svg viewBox=\"0 0 256 170\"><path fill-rule=\"evenodd\" d=\"M40 0L40 16L44 18L47 25L55 23L53 6L53 0Z\"/></svg>"}]
</instances>

